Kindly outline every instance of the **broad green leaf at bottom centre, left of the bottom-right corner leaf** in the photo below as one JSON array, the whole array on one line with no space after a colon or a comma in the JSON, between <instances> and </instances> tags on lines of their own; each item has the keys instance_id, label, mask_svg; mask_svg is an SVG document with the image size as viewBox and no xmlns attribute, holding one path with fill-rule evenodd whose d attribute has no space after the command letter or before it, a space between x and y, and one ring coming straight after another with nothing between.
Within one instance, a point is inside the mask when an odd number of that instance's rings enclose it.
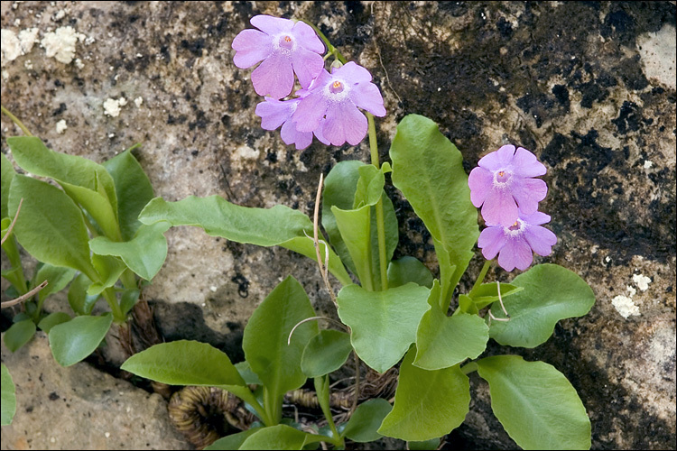
<instances>
[{"instance_id":1,"label":"broad green leaf at bottom centre, left of the bottom-right corner leaf","mask_svg":"<svg viewBox=\"0 0 677 451\"><path fill-rule=\"evenodd\" d=\"M413 366L412 348L400 366L393 411L379 434L409 441L429 440L458 428L470 405L470 382L459 365L443 370Z\"/></svg>"}]
</instances>

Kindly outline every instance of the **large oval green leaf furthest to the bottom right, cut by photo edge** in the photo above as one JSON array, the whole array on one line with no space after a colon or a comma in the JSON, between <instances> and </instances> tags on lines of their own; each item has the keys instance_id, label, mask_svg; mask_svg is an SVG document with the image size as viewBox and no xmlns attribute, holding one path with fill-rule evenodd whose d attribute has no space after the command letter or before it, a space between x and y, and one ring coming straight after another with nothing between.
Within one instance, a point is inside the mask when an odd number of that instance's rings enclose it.
<instances>
[{"instance_id":1,"label":"large oval green leaf furthest to the bottom right, cut by photo edge","mask_svg":"<svg viewBox=\"0 0 677 451\"><path fill-rule=\"evenodd\" d=\"M578 393L552 365L519 355L478 361L491 409L523 449L589 449L590 420Z\"/></svg>"}]
</instances>

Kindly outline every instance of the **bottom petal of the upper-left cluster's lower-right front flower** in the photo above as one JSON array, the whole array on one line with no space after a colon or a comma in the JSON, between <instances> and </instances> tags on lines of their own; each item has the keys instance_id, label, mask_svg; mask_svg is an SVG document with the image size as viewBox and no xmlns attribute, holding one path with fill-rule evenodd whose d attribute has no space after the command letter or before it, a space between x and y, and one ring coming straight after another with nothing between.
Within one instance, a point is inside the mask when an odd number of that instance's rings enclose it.
<instances>
[{"instance_id":1,"label":"bottom petal of the upper-left cluster's lower-right front flower","mask_svg":"<svg viewBox=\"0 0 677 451\"><path fill-rule=\"evenodd\" d=\"M327 122L324 124L322 134L332 145L342 145L347 141L351 145L357 145L365 139L367 128L365 115L346 99L340 103L329 104Z\"/></svg>"}]
</instances>

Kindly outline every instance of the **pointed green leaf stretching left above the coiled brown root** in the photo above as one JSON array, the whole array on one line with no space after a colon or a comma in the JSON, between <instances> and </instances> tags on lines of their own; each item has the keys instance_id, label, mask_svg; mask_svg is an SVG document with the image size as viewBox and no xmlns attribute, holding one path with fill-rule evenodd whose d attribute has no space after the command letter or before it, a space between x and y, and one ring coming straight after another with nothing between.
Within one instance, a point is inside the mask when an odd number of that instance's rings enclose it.
<instances>
[{"instance_id":1,"label":"pointed green leaf stretching left above the coiled brown root","mask_svg":"<svg viewBox=\"0 0 677 451\"><path fill-rule=\"evenodd\" d=\"M151 346L129 357L120 369L171 385L245 385L227 354L197 341Z\"/></svg>"}]
</instances>

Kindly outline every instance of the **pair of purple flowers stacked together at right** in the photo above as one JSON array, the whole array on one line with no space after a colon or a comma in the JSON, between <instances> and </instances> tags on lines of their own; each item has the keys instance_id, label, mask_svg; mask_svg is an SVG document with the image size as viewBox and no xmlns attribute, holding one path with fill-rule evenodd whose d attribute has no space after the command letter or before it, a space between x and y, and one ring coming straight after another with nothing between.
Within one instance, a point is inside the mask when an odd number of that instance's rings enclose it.
<instances>
[{"instance_id":1,"label":"pair of purple flowers stacked together at right","mask_svg":"<svg viewBox=\"0 0 677 451\"><path fill-rule=\"evenodd\" d=\"M505 271L525 270L533 253L549 255L557 236L542 227L550 216L538 211L548 187L542 179L545 166L536 156L514 145L504 145L478 161L470 171L470 200L482 207L487 228L479 235L478 247L487 260L498 254Z\"/></svg>"}]
</instances>

